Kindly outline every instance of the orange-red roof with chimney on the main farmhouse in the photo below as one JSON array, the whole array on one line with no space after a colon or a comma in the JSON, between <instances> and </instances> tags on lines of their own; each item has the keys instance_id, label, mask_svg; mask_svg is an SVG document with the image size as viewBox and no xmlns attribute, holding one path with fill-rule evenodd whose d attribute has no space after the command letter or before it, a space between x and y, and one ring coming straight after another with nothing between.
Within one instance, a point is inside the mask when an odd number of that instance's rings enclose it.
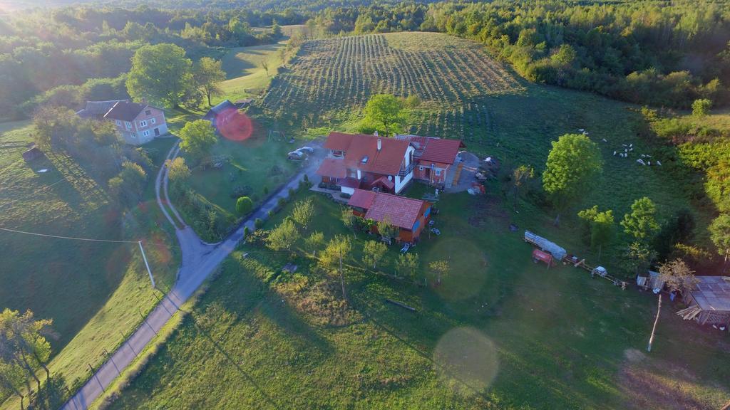
<instances>
[{"instance_id":1,"label":"orange-red roof with chimney on the main farmhouse","mask_svg":"<svg viewBox=\"0 0 730 410\"><path fill-rule=\"evenodd\" d=\"M382 147L377 150L380 140ZM345 166L381 175L395 175L401 169L410 143L401 139L366 134L342 134L332 132L324 147L328 150L345 151Z\"/></svg>"}]
</instances>

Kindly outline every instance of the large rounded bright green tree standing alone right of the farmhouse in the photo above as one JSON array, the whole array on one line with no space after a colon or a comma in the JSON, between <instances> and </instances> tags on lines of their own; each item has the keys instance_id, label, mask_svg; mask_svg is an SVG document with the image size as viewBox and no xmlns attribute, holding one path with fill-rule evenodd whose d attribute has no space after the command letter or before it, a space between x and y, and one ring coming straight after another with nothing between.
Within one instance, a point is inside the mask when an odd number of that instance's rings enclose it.
<instances>
[{"instance_id":1,"label":"large rounded bright green tree standing alone right of the farmhouse","mask_svg":"<svg viewBox=\"0 0 730 410\"><path fill-rule=\"evenodd\" d=\"M558 209L555 224L560 223L560 212L572 201L585 196L602 173L603 160L598 146L581 134L565 134L548 154L542 187Z\"/></svg>"}]
</instances>

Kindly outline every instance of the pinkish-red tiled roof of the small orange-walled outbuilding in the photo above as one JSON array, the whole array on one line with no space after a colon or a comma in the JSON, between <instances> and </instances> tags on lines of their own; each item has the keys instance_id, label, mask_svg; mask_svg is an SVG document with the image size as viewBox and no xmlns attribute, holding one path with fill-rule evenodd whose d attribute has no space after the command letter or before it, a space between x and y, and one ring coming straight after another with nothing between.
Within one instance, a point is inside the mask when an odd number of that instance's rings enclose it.
<instances>
[{"instance_id":1,"label":"pinkish-red tiled roof of the small orange-walled outbuilding","mask_svg":"<svg viewBox=\"0 0 730 410\"><path fill-rule=\"evenodd\" d=\"M361 192L361 190L356 190L353 198L358 196L358 192ZM367 208L367 212L365 214L366 218L377 222L388 220L389 223L399 228L413 228L413 224L416 220L418 220L420 209L423 206L423 201L382 192L373 194L372 203L369 208ZM350 201L352 201L353 198L350 198ZM358 199L358 201L360 200L361 199ZM350 202L348 202L348 204L350 204Z\"/></svg>"}]
</instances>

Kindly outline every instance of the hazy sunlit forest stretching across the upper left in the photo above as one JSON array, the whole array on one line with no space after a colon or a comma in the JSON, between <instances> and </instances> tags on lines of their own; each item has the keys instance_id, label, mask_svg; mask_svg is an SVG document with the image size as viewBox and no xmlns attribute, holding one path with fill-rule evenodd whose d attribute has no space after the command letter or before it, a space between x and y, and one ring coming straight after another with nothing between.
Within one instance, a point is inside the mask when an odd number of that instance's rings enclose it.
<instances>
[{"instance_id":1,"label":"hazy sunlit forest stretching across the upper left","mask_svg":"<svg viewBox=\"0 0 730 410\"><path fill-rule=\"evenodd\" d=\"M125 98L124 74L147 44L170 43L198 59L218 47L277 42L292 12L220 12L72 7L16 13L0 21L0 111L27 116L39 104ZM256 26L269 26L261 29Z\"/></svg>"}]
</instances>

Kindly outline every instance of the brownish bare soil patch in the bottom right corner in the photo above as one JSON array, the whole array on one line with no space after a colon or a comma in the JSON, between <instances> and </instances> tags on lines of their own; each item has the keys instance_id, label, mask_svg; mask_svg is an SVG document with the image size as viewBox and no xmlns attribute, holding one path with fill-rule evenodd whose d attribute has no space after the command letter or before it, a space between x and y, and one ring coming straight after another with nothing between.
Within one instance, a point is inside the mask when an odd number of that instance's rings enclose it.
<instances>
[{"instance_id":1,"label":"brownish bare soil patch in the bottom right corner","mask_svg":"<svg viewBox=\"0 0 730 410\"><path fill-rule=\"evenodd\" d=\"M723 405L720 396L730 397L722 392L717 397L700 394L702 380L671 363L656 363L637 349L627 349L624 357L618 385L626 409L717 410Z\"/></svg>"}]
</instances>

